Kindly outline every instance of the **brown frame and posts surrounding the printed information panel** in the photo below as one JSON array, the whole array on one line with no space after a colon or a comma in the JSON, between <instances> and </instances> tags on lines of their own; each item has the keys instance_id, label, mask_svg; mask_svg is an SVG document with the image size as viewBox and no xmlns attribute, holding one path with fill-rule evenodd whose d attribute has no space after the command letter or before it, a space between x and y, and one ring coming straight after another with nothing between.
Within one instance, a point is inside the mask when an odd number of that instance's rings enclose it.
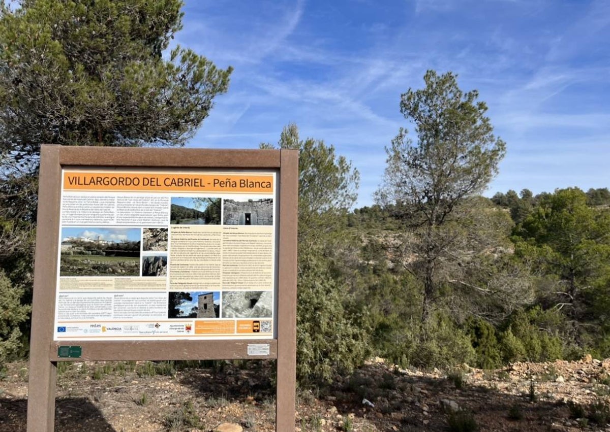
<instances>
[{"instance_id":1,"label":"brown frame and posts surrounding the printed information panel","mask_svg":"<svg viewBox=\"0 0 610 432\"><path fill-rule=\"evenodd\" d=\"M173 341L54 340L60 198L63 168L270 169L279 188L276 339ZM268 344L277 359L276 430L295 429L296 228L298 150L212 150L122 147L41 147L38 225L32 300L27 432L52 432L55 420L58 349L82 347L82 361L247 359L249 344Z\"/></svg>"}]
</instances>

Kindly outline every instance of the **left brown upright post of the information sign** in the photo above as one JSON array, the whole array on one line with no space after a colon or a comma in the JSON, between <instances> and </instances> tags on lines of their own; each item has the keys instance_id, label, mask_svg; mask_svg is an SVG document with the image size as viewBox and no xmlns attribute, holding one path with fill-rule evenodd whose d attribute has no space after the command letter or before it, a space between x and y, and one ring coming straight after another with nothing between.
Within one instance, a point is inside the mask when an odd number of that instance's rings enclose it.
<instances>
[{"instance_id":1,"label":"left brown upright post of the information sign","mask_svg":"<svg viewBox=\"0 0 610 432\"><path fill-rule=\"evenodd\" d=\"M32 299L32 334L27 390L27 432L52 432L55 422L56 363L49 359L53 341L61 166L59 146L42 146L38 185L38 227ZM47 228L51 228L50 230Z\"/></svg>"}]
</instances>

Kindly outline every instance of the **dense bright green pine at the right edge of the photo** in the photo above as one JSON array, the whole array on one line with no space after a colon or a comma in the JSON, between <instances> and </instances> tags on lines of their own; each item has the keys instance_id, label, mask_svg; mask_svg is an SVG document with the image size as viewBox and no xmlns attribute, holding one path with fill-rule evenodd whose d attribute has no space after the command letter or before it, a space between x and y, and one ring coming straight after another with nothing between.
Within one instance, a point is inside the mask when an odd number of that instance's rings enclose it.
<instances>
[{"instance_id":1,"label":"dense bright green pine at the right edge of the photo","mask_svg":"<svg viewBox=\"0 0 610 432\"><path fill-rule=\"evenodd\" d=\"M541 295L569 318L570 337L583 345L586 333L595 333L604 321L605 313L595 310L607 297L610 211L588 207L578 188L558 189L539 200L516 232L515 252L534 270L554 277ZM587 322L595 325L583 326Z\"/></svg>"}]
</instances>

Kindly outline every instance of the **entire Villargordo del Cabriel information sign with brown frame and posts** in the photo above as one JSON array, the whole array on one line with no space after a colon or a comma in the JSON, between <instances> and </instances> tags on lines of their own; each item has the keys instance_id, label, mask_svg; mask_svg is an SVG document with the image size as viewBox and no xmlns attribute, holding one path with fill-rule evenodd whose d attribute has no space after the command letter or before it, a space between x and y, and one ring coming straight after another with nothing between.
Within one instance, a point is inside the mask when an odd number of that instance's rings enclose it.
<instances>
[{"instance_id":1,"label":"entire Villargordo del Cabriel information sign with brown frame and posts","mask_svg":"<svg viewBox=\"0 0 610 432\"><path fill-rule=\"evenodd\" d=\"M58 361L277 359L295 427L297 150L41 146L27 432Z\"/></svg>"}]
</instances>

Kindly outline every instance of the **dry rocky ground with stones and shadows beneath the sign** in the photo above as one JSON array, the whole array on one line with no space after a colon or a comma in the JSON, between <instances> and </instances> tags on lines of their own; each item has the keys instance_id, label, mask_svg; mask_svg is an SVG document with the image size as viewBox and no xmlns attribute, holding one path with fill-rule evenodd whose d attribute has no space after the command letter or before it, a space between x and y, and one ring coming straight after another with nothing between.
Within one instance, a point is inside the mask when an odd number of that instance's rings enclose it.
<instances>
[{"instance_id":1,"label":"dry rocky ground with stones and shadows beneath the sign","mask_svg":"<svg viewBox=\"0 0 610 432\"><path fill-rule=\"evenodd\" d=\"M55 430L273 431L271 370L261 361L64 363ZM375 359L328 388L299 391L295 431L610 431L609 384L610 359L449 372ZM26 405L26 364L10 364L0 432L26 430Z\"/></svg>"}]
</instances>

